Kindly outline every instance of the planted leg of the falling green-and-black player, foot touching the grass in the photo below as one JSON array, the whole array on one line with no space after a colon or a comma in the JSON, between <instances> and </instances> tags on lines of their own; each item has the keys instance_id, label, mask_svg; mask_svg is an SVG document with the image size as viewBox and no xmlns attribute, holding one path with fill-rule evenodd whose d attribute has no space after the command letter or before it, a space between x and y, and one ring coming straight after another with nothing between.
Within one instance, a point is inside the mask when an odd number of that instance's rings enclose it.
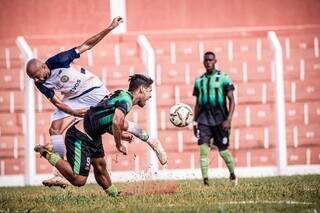
<instances>
[{"instance_id":1,"label":"planted leg of the falling green-and-black player, foot touching the grass","mask_svg":"<svg viewBox=\"0 0 320 213\"><path fill-rule=\"evenodd\" d=\"M94 177L97 183L110 196L119 195L117 188L112 184L109 173L107 171L106 161L104 158L94 158L92 160Z\"/></svg>"}]
</instances>

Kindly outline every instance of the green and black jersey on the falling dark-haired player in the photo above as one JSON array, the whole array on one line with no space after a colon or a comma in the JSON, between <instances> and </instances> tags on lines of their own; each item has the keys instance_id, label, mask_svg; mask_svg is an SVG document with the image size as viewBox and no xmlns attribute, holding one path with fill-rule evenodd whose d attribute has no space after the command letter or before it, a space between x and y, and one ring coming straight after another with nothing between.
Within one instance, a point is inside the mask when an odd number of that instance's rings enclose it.
<instances>
[{"instance_id":1,"label":"green and black jersey on the falling dark-haired player","mask_svg":"<svg viewBox=\"0 0 320 213\"><path fill-rule=\"evenodd\" d=\"M108 132L112 134L112 120L116 108L125 115L132 108L132 94L129 91L117 90L104 98L94 107L90 107L84 116L84 129L92 138Z\"/></svg>"}]
</instances>

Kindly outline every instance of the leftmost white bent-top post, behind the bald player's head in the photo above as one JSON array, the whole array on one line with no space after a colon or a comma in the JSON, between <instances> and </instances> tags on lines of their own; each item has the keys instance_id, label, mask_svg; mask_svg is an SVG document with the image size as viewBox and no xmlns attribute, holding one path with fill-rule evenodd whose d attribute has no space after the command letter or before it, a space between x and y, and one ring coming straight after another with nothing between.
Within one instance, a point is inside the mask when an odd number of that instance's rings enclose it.
<instances>
[{"instance_id":1,"label":"leftmost white bent-top post, behind the bald player's head","mask_svg":"<svg viewBox=\"0 0 320 213\"><path fill-rule=\"evenodd\" d=\"M32 59L33 52L22 36L18 36L16 44L21 51L25 62ZM24 140L25 140L25 185L35 184L36 158L33 150L35 145L35 110L34 110L34 87L24 69Z\"/></svg>"}]
</instances>

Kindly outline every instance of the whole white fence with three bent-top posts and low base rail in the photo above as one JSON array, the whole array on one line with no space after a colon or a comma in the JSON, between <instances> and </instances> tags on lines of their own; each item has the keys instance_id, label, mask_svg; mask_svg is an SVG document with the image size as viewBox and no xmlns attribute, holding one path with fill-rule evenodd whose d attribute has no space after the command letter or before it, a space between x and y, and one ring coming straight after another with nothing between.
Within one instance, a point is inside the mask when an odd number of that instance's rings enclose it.
<instances>
[{"instance_id":1,"label":"whole white fence with three bent-top posts and low base rail","mask_svg":"<svg viewBox=\"0 0 320 213\"><path fill-rule=\"evenodd\" d=\"M275 175L293 175L293 174L320 174L319 165L287 165L286 150L286 124L285 124L285 103L284 103L284 81L283 81L283 61L282 48L275 32L269 32L268 38L274 51L275 64L275 106L276 106L276 139L277 139L277 165L268 167L246 167L236 168L236 174L239 177L261 177ZM137 38L137 42L142 49L142 61L149 76L155 79L155 55L154 50L148 39L144 35ZM31 48L27 45L22 37L17 38L17 45L21 50L25 61L33 57ZM154 84L155 85L155 84ZM25 76L25 175L0 176L0 186L22 186L38 185L41 180L49 178L51 174L35 174L35 153L33 147L35 144L35 113L34 113L34 91L33 82ZM157 137L157 112L156 112L156 88L153 88L153 99L148 104L148 123L151 137ZM115 182L137 181L145 179L198 179L201 178L200 169L175 169L175 170L158 170L156 156L149 150L148 154L151 170L146 173L126 171L111 172L111 178ZM174 159L169 159L174 160ZM227 169L210 169L209 177L226 177ZM92 175L89 176L89 182L95 182Z\"/></svg>"}]
</instances>

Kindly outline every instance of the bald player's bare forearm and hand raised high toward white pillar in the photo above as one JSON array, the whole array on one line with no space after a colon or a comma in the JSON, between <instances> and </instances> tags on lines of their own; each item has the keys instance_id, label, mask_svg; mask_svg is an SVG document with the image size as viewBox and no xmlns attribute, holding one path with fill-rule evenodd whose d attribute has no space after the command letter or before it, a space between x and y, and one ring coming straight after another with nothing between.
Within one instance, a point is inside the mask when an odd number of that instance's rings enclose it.
<instances>
[{"instance_id":1,"label":"bald player's bare forearm and hand raised high toward white pillar","mask_svg":"<svg viewBox=\"0 0 320 213\"><path fill-rule=\"evenodd\" d=\"M79 53L83 53L87 50L90 50L92 47L94 47L99 41L101 41L107 34L109 34L113 29L115 29L117 26L119 26L120 23L123 22L122 17L118 16L112 20L110 25L102 30L100 33L92 36L88 40L86 40L83 44L77 47L77 50Z\"/></svg>"}]
</instances>

